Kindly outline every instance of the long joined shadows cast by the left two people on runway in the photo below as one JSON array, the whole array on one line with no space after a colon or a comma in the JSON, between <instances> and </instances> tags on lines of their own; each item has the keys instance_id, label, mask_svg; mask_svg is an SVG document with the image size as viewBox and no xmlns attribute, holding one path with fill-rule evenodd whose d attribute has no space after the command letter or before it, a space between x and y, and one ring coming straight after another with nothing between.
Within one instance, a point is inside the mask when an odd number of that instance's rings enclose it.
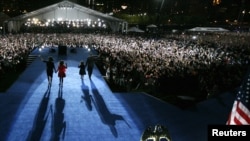
<instances>
[{"instance_id":1,"label":"long joined shadows cast by the left two people on runway","mask_svg":"<svg viewBox=\"0 0 250 141\"><path fill-rule=\"evenodd\" d=\"M62 87L59 87L58 97L55 100L55 110L53 110L52 105L49 109L49 98L50 98L51 86L44 93L43 99L37 110L36 118L34 120L33 127L29 132L27 141L39 141L41 140L44 128L47 124L49 115L52 116L51 123L51 141L59 141L60 135L62 133L62 138L65 136L66 122L64 121L63 109L65 107L65 100L63 99Z\"/></svg>"}]
</instances>

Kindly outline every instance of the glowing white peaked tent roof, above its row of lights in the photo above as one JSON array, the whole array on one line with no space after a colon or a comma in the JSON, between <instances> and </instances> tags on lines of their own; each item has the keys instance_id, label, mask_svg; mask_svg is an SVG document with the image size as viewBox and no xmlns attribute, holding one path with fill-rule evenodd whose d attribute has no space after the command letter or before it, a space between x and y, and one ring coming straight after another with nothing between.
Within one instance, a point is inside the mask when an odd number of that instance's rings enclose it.
<instances>
[{"instance_id":1,"label":"glowing white peaked tent roof, above its row of lights","mask_svg":"<svg viewBox=\"0 0 250 141\"><path fill-rule=\"evenodd\" d=\"M123 30L123 28L127 26L127 22L122 19L115 18L108 14L89 9L87 7L78 5L67 0L11 18L5 21L5 23L8 28L8 31L18 32L20 30L21 25L25 23L28 19L32 18L36 18L43 21L73 21L83 19L91 19L92 21L103 20L109 25L109 27L114 32Z\"/></svg>"}]
</instances>

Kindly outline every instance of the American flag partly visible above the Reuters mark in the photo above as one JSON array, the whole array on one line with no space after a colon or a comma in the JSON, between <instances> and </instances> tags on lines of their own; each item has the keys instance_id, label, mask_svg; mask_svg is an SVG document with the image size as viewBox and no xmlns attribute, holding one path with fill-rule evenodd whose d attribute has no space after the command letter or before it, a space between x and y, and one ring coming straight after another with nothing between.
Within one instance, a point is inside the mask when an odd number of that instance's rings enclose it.
<instances>
[{"instance_id":1,"label":"American flag partly visible above the Reuters mark","mask_svg":"<svg viewBox=\"0 0 250 141\"><path fill-rule=\"evenodd\" d=\"M227 125L250 125L250 73L239 88Z\"/></svg>"}]
</instances>

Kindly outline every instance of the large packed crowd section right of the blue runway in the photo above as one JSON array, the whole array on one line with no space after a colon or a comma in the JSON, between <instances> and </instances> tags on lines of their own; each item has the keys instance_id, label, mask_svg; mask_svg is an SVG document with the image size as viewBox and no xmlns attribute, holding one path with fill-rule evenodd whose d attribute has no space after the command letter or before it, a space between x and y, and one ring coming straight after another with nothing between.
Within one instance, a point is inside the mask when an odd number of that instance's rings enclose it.
<instances>
[{"instance_id":1,"label":"large packed crowd section right of the blue runway","mask_svg":"<svg viewBox=\"0 0 250 141\"><path fill-rule=\"evenodd\" d=\"M109 35L99 37L95 46L105 57L109 78L128 89L188 93L198 86L197 93L206 97L240 84L248 68L249 35L169 34L157 39Z\"/></svg>"}]
</instances>

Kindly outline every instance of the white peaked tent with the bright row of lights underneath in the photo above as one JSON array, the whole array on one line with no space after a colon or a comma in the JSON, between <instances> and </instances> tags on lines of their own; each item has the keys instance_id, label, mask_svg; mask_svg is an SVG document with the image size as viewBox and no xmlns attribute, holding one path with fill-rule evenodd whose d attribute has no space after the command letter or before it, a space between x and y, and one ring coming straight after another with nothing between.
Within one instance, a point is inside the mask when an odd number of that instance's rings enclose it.
<instances>
[{"instance_id":1,"label":"white peaked tent with the bright row of lights underneath","mask_svg":"<svg viewBox=\"0 0 250 141\"><path fill-rule=\"evenodd\" d=\"M110 15L64 0L5 21L4 30L18 32L22 25L53 26L54 23L73 26L106 26L113 32L126 31L128 23Z\"/></svg>"}]
</instances>

